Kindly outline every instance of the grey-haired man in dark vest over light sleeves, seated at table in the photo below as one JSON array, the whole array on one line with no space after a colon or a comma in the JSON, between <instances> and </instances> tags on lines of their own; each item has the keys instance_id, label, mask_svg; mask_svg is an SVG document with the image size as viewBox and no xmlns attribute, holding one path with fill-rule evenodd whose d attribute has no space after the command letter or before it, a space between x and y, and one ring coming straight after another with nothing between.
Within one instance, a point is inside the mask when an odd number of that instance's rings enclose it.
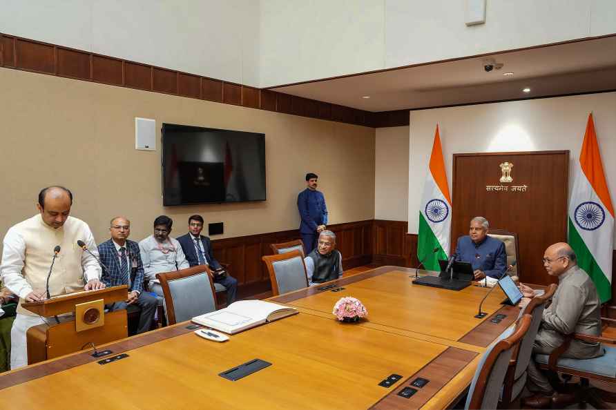
<instances>
[{"instance_id":1,"label":"grey-haired man in dark vest over light sleeves, seated at table","mask_svg":"<svg viewBox=\"0 0 616 410\"><path fill-rule=\"evenodd\" d=\"M343 255L336 249L336 234L321 231L316 248L304 258L309 286L343 276Z\"/></svg>"}]
</instances>

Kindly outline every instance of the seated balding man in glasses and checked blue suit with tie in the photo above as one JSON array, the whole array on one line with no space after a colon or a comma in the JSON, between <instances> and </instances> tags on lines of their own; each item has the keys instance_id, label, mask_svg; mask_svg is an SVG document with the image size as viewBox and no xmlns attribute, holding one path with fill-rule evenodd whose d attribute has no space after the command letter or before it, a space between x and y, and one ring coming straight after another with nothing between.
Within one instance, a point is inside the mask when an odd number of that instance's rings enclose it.
<instances>
[{"instance_id":1,"label":"seated balding man in glasses and checked blue suit with tie","mask_svg":"<svg viewBox=\"0 0 616 410\"><path fill-rule=\"evenodd\" d=\"M139 253L139 244L129 241L131 221L125 217L111 219L111 239L99 244L98 253L103 267L101 281L106 286L128 285L128 299L106 305L110 311L126 309L135 304L141 309L137 333L150 330L158 301L151 293L144 291L144 266Z\"/></svg>"}]
</instances>

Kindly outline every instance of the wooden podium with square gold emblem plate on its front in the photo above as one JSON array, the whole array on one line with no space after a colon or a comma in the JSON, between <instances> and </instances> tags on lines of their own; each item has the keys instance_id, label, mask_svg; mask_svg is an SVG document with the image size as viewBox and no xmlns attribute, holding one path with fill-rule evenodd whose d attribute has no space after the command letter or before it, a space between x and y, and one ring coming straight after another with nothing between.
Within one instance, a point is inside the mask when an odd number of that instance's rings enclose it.
<instances>
[{"instance_id":1,"label":"wooden podium with square gold emblem plate on its front","mask_svg":"<svg viewBox=\"0 0 616 410\"><path fill-rule=\"evenodd\" d=\"M122 302L128 297L128 286L111 286L97 291L81 291L57 295L41 302L22 303L23 309L36 313L48 324L32 326L26 333L28 364L42 362L98 346L128 336L126 309L105 313L105 304ZM61 316L60 323L53 318Z\"/></svg>"}]
</instances>

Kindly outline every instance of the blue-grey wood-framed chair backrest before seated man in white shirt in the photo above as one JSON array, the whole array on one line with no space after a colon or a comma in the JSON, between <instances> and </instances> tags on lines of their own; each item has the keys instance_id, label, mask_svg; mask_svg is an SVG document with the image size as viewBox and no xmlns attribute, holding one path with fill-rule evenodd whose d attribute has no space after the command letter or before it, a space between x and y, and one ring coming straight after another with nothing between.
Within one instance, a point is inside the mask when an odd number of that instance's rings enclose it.
<instances>
[{"instance_id":1,"label":"blue-grey wood-framed chair backrest before seated man in white shirt","mask_svg":"<svg viewBox=\"0 0 616 410\"><path fill-rule=\"evenodd\" d=\"M169 324L191 320L217 309L216 293L207 265L175 272L157 273L164 295Z\"/></svg>"}]
</instances>

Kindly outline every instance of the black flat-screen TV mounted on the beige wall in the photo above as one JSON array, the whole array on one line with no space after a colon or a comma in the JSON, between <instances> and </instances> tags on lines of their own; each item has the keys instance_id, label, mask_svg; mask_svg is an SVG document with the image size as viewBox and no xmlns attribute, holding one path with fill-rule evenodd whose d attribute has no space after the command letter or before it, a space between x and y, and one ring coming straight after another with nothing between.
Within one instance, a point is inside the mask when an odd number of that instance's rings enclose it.
<instances>
[{"instance_id":1,"label":"black flat-screen TV mounted on the beige wall","mask_svg":"<svg viewBox=\"0 0 616 410\"><path fill-rule=\"evenodd\" d=\"M265 200L265 135L162 124L164 206Z\"/></svg>"}]
</instances>

